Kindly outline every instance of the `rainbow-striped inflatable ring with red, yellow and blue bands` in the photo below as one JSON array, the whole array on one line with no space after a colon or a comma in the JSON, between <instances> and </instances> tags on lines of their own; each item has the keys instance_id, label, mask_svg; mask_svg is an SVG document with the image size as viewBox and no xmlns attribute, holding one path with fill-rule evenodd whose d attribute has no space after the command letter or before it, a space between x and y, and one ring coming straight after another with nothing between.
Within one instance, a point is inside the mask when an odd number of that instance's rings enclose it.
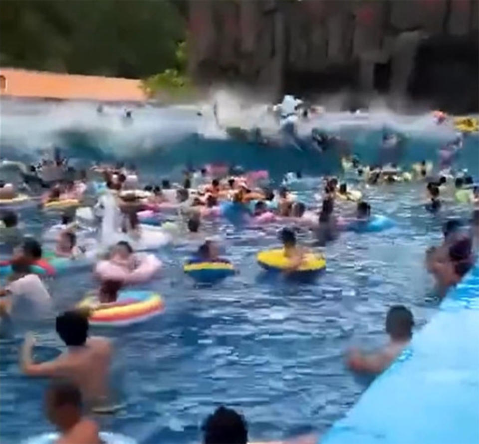
<instances>
[{"instance_id":1,"label":"rainbow-striped inflatable ring with red, yellow and blue bands","mask_svg":"<svg viewBox=\"0 0 479 444\"><path fill-rule=\"evenodd\" d=\"M116 302L94 309L98 299L87 296L78 304L79 308L92 307L90 325L122 327L146 321L163 312L165 304L158 293L129 290L119 293Z\"/></svg>"}]
</instances>

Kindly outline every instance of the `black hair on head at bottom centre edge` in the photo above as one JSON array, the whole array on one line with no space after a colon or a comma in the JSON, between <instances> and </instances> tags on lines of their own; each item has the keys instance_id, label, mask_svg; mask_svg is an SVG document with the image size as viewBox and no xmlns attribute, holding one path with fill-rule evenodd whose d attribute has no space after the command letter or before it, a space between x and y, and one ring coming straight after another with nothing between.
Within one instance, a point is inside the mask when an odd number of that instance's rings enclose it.
<instances>
[{"instance_id":1,"label":"black hair on head at bottom centre edge","mask_svg":"<svg viewBox=\"0 0 479 444\"><path fill-rule=\"evenodd\" d=\"M221 406L210 415L202 426L204 444L246 444L247 424L233 409Z\"/></svg>"}]
</instances>

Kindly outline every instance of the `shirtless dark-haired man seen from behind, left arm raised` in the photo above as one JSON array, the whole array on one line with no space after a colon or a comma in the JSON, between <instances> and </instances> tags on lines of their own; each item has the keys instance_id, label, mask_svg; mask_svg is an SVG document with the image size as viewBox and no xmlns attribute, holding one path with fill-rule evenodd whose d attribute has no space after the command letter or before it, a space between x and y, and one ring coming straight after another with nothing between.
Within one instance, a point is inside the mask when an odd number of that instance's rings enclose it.
<instances>
[{"instance_id":1,"label":"shirtless dark-haired man seen from behind, left arm raised","mask_svg":"<svg viewBox=\"0 0 479 444\"><path fill-rule=\"evenodd\" d=\"M109 395L110 341L102 337L88 338L88 319L79 311L57 316L56 332L68 350L53 361L35 364L31 356L35 339L28 333L21 348L21 370L28 376L66 378L78 386L92 411L105 411Z\"/></svg>"}]
</instances>

